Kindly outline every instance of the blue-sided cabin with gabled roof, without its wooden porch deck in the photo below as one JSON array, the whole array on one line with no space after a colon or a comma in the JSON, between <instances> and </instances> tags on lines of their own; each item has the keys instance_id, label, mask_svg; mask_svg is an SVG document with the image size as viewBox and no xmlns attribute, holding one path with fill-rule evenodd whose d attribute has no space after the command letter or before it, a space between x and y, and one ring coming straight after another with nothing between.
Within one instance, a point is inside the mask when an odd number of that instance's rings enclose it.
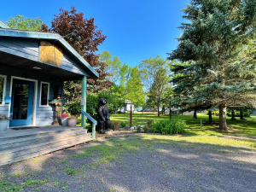
<instances>
[{"instance_id":1,"label":"blue-sided cabin with gabled roof, without its wooden porch deck","mask_svg":"<svg viewBox=\"0 0 256 192\"><path fill-rule=\"evenodd\" d=\"M64 38L56 33L10 29L0 22L0 114L9 125L52 125L55 106L49 100L63 96L63 82L98 73ZM85 105L84 105L85 111Z\"/></svg>"}]
</instances>

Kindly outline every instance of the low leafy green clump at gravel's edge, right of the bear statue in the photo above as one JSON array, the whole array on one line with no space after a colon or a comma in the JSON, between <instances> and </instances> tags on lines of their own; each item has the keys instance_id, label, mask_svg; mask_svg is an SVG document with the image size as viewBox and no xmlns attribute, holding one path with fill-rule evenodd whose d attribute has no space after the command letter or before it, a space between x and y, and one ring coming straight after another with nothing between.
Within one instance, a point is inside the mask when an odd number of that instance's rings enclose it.
<instances>
[{"instance_id":1,"label":"low leafy green clump at gravel's edge, right of the bear statue","mask_svg":"<svg viewBox=\"0 0 256 192\"><path fill-rule=\"evenodd\" d=\"M158 120L151 125L153 132L161 134L184 133L186 124L182 120Z\"/></svg>"}]
</instances>

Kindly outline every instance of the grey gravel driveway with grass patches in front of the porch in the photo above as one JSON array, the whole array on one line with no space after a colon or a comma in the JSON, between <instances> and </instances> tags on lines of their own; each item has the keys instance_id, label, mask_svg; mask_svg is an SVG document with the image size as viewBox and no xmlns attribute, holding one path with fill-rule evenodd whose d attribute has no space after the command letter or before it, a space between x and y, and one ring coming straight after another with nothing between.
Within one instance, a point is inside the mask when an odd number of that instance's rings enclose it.
<instances>
[{"instance_id":1,"label":"grey gravel driveway with grass patches in front of the porch","mask_svg":"<svg viewBox=\"0 0 256 192\"><path fill-rule=\"evenodd\" d=\"M255 192L256 153L124 133L2 166L0 173L0 191Z\"/></svg>"}]
</instances>

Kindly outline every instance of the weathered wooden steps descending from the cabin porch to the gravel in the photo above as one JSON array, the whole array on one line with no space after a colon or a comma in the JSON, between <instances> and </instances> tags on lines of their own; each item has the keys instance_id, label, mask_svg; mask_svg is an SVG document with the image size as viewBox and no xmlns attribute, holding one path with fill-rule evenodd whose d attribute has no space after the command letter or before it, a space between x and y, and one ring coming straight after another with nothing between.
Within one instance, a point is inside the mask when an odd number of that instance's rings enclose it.
<instances>
[{"instance_id":1,"label":"weathered wooden steps descending from the cabin porch to the gravel","mask_svg":"<svg viewBox=\"0 0 256 192\"><path fill-rule=\"evenodd\" d=\"M49 131L44 132L42 135L32 133L32 135L26 134L26 136L9 137L8 141L1 141L0 166L27 160L41 154L48 154L92 140L91 134L87 133L83 128L73 129L72 131Z\"/></svg>"}]
</instances>

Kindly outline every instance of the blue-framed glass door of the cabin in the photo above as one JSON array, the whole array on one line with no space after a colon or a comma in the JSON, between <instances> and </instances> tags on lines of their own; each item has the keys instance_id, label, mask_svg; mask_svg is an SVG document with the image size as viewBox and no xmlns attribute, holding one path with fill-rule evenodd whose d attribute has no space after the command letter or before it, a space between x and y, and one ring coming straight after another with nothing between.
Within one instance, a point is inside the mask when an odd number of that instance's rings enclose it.
<instances>
[{"instance_id":1,"label":"blue-framed glass door of the cabin","mask_svg":"<svg viewBox=\"0 0 256 192\"><path fill-rule=\"evenodd\" d=\"M11 117L9 125L32 124L32 100L34 82L14 79L12 90Z\"/></svg>"}]
</instances>

